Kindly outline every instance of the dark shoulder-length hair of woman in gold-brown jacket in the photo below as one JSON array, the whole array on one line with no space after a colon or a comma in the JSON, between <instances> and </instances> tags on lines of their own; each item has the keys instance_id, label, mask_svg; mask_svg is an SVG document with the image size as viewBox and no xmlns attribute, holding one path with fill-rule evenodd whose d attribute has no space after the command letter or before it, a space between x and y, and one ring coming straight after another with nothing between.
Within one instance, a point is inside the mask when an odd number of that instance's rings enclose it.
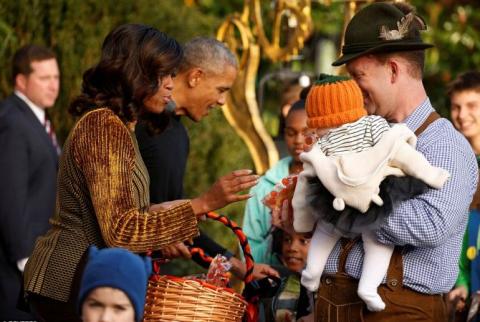
<instances>
[{"instance_id":1,"label":"dark shoulder-length hair of woman in gold-brown jacket","mask_svg":"<svg viewBox=\"0 0 480 322\"><path fill-rule=\"evenodd\" d=\"M105 38L100 62L83 74L82 93L69 111L79 116L108 107L123 122L135 121L143 102L157 92L162 77L175 73L182 57L181 45L165 33L142 24L121 25ZM167 114L156 117L157 126L168 123Z\"/></svg>"}]
</instances>

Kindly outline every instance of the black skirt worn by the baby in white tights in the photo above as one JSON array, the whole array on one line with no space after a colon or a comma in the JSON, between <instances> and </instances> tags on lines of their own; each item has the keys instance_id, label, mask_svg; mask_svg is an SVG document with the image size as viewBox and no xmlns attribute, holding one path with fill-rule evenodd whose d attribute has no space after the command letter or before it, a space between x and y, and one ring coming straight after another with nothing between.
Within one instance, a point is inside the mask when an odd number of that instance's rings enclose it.
<instances>
[{"instance_id":1,"label":"black skirt worn by the baby in white tights","mask_svg":"<svg viewBox=\"0 0 480 322\"><path fill-rule=\"evenodd\" d=\"M306 200L313 215L322 221L317 222L317 225L323 225L327 231L353 238L379 228L398 203L421 194L428 188L427 184L414 177L389 176L380 184L382 206L372 202L365 213L348 205L345 205L344 210L337 211L333 208L335 197L318 178L312 178L308 181Z\"/></svg>"}]
</instances>

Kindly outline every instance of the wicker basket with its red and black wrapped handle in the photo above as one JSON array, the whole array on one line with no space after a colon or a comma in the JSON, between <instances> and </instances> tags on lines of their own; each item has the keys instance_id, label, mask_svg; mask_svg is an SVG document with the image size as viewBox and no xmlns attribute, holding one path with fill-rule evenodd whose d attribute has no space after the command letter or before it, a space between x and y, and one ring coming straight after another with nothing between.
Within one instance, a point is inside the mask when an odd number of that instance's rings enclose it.
<instances>
[{"instance_id":1,"label":"wicker basket with its red and black wrapped handle","mask_svg":"<svg viewBox=\"0 0 480 322\"><path fill-rule=\"evenodd\" d=\"M222 222L236 234L247 265L244 281L250 282L253 258L241 228L215 213L208 213L207 218ZM154 274L148 282L144 321L242 321L246 307L244 298L231 288Z\"/></svg>"}]
</instances>

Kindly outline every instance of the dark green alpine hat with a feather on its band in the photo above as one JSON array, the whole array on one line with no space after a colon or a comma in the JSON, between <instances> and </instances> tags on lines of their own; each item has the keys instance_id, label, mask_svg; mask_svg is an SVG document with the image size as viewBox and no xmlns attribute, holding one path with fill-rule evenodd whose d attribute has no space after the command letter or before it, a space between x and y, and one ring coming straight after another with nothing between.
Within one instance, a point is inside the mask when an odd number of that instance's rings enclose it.
<instances>
[{"instance_id":1,"label":"dark green alpine hat with a feather on its band","mask_svg":"<svg viewBox=\"0 0 480 322\"><path fill-rule=\"evenodd\" d=\"M332 65L340 66L365 54L433 47L420 37L420 30L425 29L425 22L414 12L404 14L390 3L373 3L348 23L342 56Z\"/></svg>"}]
</instances>

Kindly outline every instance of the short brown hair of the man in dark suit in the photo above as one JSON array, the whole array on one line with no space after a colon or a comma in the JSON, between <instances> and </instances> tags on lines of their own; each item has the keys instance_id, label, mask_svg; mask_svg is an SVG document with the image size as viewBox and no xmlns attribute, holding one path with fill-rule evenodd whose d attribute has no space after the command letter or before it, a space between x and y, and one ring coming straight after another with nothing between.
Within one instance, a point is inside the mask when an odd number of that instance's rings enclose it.
<instances>
[{"instance_id":1,"label":"short brown hair of the man in dark suit","mask_svg":"<svg viewBox=\"0 0 480 322\"><path fill-rule=\"evenodd\" d=\"M32 62L43 61L57 58L55 53L43 46L26 45L15 52L12 62L12 80L15 84L15 78L18 74L30 75L32 70Z\"/></svg>"}]
</instances>

